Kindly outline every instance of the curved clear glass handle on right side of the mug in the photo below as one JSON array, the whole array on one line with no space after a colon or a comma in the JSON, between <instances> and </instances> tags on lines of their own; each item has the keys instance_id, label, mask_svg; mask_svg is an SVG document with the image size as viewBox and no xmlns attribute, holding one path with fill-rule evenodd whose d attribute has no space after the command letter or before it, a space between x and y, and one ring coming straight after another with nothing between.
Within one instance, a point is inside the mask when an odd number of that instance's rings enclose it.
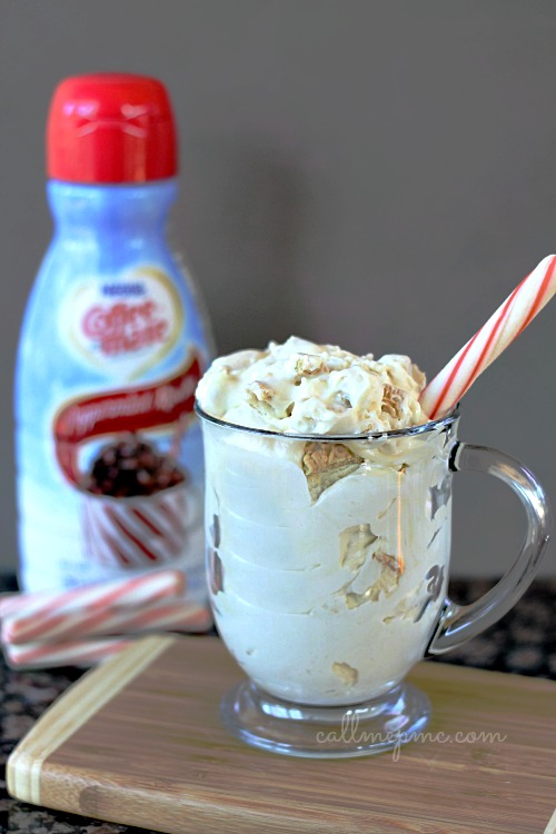
<instances>
[{"instance_id":1,"label":"curved clear glass handle on right side of the mug","mask_svg":"<svg viewBox=\"0 0 556 834\"><path fill-rule=\"evenodd\" d=\"M425 656L441 655L460 646L507 614L533 582L552 526L543 487L515 458L485 446L458 443L451 453L450 469L487 473L512 487L524 505L527 532L517 559L494 588L471 605L460 606L446 599Z\"/></svg>"}]
</instances>

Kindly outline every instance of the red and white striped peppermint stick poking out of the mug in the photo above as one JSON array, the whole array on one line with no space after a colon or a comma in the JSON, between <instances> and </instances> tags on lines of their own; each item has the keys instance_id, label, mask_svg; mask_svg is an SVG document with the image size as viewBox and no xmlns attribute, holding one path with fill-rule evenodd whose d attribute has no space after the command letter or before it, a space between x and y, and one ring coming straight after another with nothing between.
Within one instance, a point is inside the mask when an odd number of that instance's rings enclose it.
<instances>
[{"instance_id":1,"label":"red and white striped peppermint stick poking out of the mug","mask_svg":"<svg viewBox=\"0 0 556 834\"><path fill-rule=\"evenodd\" d=\"M527 327L556 292L556 256L548 255L420 395L429 419L448 414L485 368Z\"/></svg>"}]
</instances>

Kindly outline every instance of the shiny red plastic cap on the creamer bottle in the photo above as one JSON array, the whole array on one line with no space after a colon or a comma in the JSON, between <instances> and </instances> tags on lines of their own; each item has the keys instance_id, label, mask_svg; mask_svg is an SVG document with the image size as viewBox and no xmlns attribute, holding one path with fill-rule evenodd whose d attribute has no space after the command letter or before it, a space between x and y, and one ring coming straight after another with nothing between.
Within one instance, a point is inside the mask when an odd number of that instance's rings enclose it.
<instances>
[{"instance_id":1,"label":"shiny red plastic cap on the creamer bottle","mask_svg":"<svg viewBox=\"0 0 556 834\"><path fill-rule=\"evenodd\" d=\"M178 170L170 99L156 78L99 72L58 85L47 172L69 182L145 182Z\"/></svg>"}]
</instances>

